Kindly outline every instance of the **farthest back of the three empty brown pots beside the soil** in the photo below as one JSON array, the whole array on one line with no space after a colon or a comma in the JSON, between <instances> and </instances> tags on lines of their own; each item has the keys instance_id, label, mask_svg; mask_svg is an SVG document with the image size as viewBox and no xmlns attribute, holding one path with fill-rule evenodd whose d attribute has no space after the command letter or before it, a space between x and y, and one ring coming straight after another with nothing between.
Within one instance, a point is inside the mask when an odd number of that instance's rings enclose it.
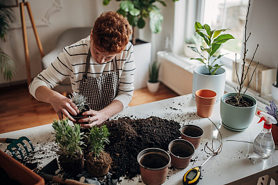
<instances>
[{"instance_id":1,"label":"farthest back of the three empty brown pots beside the soil","mask_svg":"<svg viewBox=\"0 0 278 185\"><path fill-rule=\"evenodd\" d=\"M195 149L199 147L199 143L201 142L202 136L204 134L204 130L202 130L201 127L196 125L184 125L181 127L180 131L181 139L192 143Z\"/></svg>"}]
</instances>

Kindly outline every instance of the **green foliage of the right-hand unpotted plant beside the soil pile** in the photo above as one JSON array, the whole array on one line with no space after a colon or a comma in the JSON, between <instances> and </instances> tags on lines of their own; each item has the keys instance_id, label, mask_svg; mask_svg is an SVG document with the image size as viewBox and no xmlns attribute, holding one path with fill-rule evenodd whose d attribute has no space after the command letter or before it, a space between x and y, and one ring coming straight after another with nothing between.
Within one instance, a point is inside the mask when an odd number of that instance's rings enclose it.
<instances>
[{"instance_id":1,"label":"green foliage of the right-hand unpotted plant beside the soil pile","mask_svg":"<svg viewBox=\"0 0 278 185\"><path fill-rule=\"evenodd\" d=\"M88 136L88 142L90 145L90 150L93 152L95 157L98 157L101 151L104 151L104 146L109 143L108 128L106 125L97 127L96 125L91 128L90 134Z\"/></svg>"}]
</instances>

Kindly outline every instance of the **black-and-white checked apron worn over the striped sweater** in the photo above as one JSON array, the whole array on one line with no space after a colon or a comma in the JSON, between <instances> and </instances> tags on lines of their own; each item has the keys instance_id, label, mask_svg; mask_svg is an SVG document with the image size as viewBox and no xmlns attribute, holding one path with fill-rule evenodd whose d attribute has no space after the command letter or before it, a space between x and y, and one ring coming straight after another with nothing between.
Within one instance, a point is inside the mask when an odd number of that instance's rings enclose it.
<instances>
[{"instance_id":1,"label":"black-and-white checked apron worn over the striped sweater","mask_svg":"<svg viewBox=\"0 0 278 185\"><path fill-rule=\"evenodd\" d=\"M80 82L79 93L87 98L90 109L99 111L107 107L117 96L119 73L117 73L117 62L113 59L113 72L107 73L99 78L87 76L90 66L91 52L88 51L85 73Z\"/></svg>"}]
</instances>

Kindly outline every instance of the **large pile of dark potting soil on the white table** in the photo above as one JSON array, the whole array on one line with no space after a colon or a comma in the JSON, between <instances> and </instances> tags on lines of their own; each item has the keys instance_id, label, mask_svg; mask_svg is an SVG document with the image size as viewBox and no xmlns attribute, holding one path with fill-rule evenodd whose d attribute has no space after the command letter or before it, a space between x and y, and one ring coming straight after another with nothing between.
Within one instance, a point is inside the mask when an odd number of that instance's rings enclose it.
<instances>
[{"instance_id":1,"label":"large pile of dark potting soil on the white table","mask_svg":"<svg viewBox=\"0 0 278 185\"><path fill-rule=\"evenodd\" d=\"M113 178L125 176L128 179L140 174L137 155L145 148L161 148L167 151L168 144L181 136L180 125L158 117L131 119L129 117L107 121L111 133L110 144L105 151L112 157Z\"/></svg>"}]
</instances>

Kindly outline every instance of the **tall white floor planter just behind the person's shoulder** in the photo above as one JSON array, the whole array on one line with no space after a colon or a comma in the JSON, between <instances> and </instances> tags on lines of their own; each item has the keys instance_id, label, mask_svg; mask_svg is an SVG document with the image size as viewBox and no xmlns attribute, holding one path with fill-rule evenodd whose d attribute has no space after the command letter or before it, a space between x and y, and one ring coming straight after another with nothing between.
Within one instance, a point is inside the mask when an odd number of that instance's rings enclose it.
<instances>
[{"instance_id":1,"label":"tall white floor planter just behind the person's shoulder","mask_svg":"<svg viewBox=\"0 0 278 185\"><path fill-rule=\"evenodd\" d=\"M133 60L136 65L133 85L135 89L146 87L146 81L149 77L149 63L152 60L152 44L138 44L133 46Z\"/></svg>"}]
</instances>

